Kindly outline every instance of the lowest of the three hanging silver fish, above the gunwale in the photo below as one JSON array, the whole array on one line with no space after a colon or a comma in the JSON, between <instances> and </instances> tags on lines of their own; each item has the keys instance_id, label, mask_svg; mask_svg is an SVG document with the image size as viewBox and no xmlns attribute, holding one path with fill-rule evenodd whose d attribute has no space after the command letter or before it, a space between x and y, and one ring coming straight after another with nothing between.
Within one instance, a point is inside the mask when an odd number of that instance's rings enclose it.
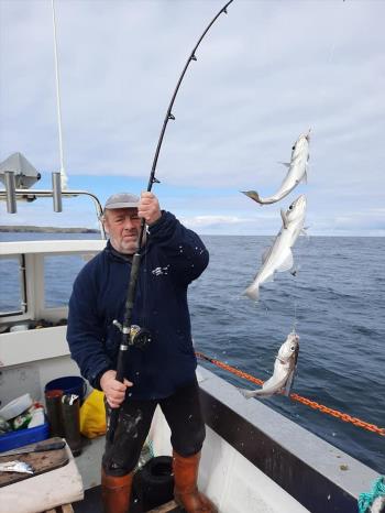
<instances>
[{"instance_id":1,"label":"lowest of the three hanging silver fish, above the gunwale","mask_svg":"<svg viewBox=\"0 0 385 513\"><path fill-rule=\"evenodd\" d=\"M285 390L285 395L288 395L294 381L294 374L297 367L299 353L299 337L296 332L287 336L285 342L280 346L278 354L274 362L274 372L272 378L263 383L262 389L245 390L238 389L241 394L246 397L268 397L278 393L282 389Z\"/></svg>"}]
</instances>

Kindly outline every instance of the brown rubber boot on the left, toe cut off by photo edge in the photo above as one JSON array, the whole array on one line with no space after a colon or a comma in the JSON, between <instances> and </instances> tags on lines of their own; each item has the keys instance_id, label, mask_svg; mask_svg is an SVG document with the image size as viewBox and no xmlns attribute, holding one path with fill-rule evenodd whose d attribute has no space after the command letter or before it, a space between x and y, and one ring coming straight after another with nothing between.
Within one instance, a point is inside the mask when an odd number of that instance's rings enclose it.
<instances>
[{"instance_id":1,"label":"brown rubber boot on the left, toe cut off by photo edge","mask_svg":"<svg viewBox=\"0 0 385 513\"><path fill-rule=\"evenodd\" d=\"M108 476L101 470L101 499L105 513L127 513L131 499L133 472L127 476Z\"/></svg>"}]
</instances>

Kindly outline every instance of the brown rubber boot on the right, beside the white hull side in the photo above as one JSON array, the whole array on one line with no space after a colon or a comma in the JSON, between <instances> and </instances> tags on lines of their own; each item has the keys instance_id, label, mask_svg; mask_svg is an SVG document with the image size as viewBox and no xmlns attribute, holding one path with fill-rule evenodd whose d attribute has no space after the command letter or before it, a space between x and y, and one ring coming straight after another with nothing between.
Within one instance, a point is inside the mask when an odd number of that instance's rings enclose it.
<instances>
[{"instance_id":1,"label":"brown rubber boot on the right, beside the white hull side","mask_svg":"<svg viewBox=\"0 0 385 513\"><path fill-rule=\"evenodd\" d=\"M198 491L198 468L200 452L184 458L173 451L173 471L175 479L174 496L178 505L187 513L218 513L213 503Z\"/></svg>"}]
</instances>

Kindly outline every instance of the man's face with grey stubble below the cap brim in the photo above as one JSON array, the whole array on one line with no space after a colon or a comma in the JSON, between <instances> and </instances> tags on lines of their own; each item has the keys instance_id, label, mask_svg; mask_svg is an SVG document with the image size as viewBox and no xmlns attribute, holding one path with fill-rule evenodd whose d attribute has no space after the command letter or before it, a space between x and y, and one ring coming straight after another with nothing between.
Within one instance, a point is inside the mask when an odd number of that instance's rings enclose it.
<instances>
[{"instance_id":1,"label":"man's face with grey stubble below the cap brim","mask_svg":"<svg viewBox=\"0 0 385 513\"><path fill-rule=\"evenodd\" d=\"M133 254L136 251L141 229L138 208L107 209L103 223L112 248L125 254Z\"/></svg>"}]
</instances>

